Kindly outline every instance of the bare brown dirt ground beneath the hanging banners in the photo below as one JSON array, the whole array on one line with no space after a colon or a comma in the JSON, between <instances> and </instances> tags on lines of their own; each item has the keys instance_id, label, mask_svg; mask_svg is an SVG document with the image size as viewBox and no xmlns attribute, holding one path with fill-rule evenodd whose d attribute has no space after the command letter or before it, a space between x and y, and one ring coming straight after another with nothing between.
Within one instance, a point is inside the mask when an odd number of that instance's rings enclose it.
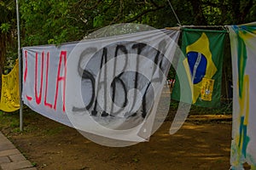
<instances>
[{"instance_id":1,"label":"bare brown dirt ground beneath the hanging banners","mask_svg":"<svg viewBox=\"0 0 256 170\"><path fill-rule=\"evenodd\" d=\"M190 170L230 168L230 116L189 116L170 135L166 121L149 142L111 148L85 139L71 127L38 114L25 117L22 133L3 133L38 169Z\"/></svg>"}]
</instances>

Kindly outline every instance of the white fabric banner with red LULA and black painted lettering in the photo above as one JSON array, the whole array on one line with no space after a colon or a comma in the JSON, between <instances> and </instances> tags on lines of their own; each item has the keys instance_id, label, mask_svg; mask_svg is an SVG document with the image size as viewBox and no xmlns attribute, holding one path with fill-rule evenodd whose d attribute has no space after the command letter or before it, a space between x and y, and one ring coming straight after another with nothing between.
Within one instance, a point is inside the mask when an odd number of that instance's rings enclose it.
<instances>
[{"instance_id":1,"label":"white fabric banner with red LULA and black painted lettering","mask_svg":"<svg viewBox=\"0 0 256 170\"><path fill-rule=\"evenodd\" d=\"M33 111L82 132L145 141L154 131L179 32L23 48L22 99Z\"/></svg>"}]
</instances>

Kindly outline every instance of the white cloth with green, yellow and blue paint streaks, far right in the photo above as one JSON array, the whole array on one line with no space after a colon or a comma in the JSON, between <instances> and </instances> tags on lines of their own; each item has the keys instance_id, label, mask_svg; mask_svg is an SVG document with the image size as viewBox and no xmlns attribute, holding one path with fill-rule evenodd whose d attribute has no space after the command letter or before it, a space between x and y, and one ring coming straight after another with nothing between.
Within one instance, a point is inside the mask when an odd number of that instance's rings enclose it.
<instances>
[{"instance_id":1,"label":"white cloth with green, yellow and blue paint streaks, far right","mask_svg":"<svg viewBox=\"0 0 256 170\"><path fill-rule=\"evenodd\" d=\"M233 67L231 169L256 169L256 22L229 26Z\"/></svg>"}]
</instances>

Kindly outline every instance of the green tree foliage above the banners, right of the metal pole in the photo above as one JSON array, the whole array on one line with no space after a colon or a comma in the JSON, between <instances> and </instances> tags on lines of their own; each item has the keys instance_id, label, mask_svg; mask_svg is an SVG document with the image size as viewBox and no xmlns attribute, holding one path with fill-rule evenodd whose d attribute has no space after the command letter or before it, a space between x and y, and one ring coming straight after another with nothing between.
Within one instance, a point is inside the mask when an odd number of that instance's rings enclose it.
<instances>
[{"instance_id":1,"label":"green tree foliage above the banners, right of the metal pole","mask_svg":"<svg viewBox=\"0 0 256 170\"><path fill-rule=\"evenodd\" d=\"M254 0L171 3L182 25L213 26L256 20ZM20 16L23 46L79 41L91 31L117 23L134 22L155 28L177 26L169 3L154 0L20 0Z\"/></svg>"}]
</instances>

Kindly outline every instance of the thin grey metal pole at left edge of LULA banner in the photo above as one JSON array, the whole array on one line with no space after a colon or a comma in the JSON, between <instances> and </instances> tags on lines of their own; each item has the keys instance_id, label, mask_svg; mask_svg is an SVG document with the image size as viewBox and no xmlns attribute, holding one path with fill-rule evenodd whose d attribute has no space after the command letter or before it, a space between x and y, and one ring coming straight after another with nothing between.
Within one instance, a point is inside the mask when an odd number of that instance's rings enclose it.
<instances>
[{"instance_id":1,"label":"thin grey metal pole at left edge of LULA banner","mask_svg":"<svg viewBox=\"0 0 256 170\"><path fill-rule=\"evenodd\" d=\"M16 15L17 15L17 34L18 34L18 59L19 59L19 90L20 90L20 131L23 131L23 101L21 98L22 90L22 59L20 55L20 13L19 2L16 0Z\"/></svg>"}]
</instances>

